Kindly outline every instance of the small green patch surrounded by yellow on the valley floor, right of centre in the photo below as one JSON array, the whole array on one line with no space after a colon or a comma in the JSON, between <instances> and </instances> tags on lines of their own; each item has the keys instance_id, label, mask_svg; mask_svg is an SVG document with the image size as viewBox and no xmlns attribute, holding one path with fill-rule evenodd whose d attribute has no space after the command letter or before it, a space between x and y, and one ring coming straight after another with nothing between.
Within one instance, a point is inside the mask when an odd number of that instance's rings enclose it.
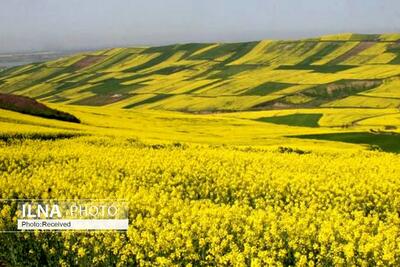
<instances>
[{"instance_id":1,"label":"small green patch surrounded by yellow on the valley floor, right of centre","mask_svg":"<svg viewBox=\"0 0 400 267\"><path fill-rule=\"evenodd\" d=\"M322 114L291 114L286 116L263 117L257 119L257 121L288 126L319 127L318 121L322 116Z\"/></svg>"}]
</instances>

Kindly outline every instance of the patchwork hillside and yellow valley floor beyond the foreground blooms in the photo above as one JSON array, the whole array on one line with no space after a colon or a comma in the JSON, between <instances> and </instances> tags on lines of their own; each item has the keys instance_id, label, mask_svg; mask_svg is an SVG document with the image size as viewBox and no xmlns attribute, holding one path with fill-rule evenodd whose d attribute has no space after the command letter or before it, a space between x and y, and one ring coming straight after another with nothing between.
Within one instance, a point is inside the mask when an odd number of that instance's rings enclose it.
<instances>
[{"instance_id":1,"label":"patchwork hillside and yellow valley floor beyond the foreground blooms","mask_svg":"<svg viewBox=\"0 0 400 267\"><path fill-rule=\"evenodd\" d=\"M399 88L400 34L114 48L0 71L0 93L82 122L2 110L0 130L397 153Z\"/></svg>"}]
</instances>

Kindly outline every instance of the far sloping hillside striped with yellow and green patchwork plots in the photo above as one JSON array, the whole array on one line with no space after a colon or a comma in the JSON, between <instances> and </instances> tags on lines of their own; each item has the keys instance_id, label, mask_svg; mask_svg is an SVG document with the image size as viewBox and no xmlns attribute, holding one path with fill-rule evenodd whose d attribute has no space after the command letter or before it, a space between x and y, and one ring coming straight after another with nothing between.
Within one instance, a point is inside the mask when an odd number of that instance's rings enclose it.
<instances>
[{"instance_id":1,"label":"far sloping hillside striped with yellow and green patchwork plots","mask_svg":"<svg viewBox=\"0 0 400 267\"><path fill-rule=\"evenodd\" d=\"M0 72L45 102L221 112L399 107L400 34L191 43L80 53Z\"/></svg>"}]
</instances>

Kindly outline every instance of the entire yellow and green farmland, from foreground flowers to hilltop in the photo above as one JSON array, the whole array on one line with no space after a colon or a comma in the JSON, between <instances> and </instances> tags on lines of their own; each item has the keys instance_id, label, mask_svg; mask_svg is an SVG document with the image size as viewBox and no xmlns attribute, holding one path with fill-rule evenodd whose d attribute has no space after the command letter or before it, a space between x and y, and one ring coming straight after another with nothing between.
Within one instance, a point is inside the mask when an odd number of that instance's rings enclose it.
<instances>
[{"instance_id":1,"label":"entire yellow and green farmland, from foreground flowers to hilltop","mask_svg":"<svg viewBox=\"0 0 400 267\"><path fill-rule=\"evenodd\" d=\"M0 70L0 93L80 121L0 109L0 198L129 203L126 233L0 234L0 266L400 265L399 40L114 48Z\"/></svg>"}]
</instances>

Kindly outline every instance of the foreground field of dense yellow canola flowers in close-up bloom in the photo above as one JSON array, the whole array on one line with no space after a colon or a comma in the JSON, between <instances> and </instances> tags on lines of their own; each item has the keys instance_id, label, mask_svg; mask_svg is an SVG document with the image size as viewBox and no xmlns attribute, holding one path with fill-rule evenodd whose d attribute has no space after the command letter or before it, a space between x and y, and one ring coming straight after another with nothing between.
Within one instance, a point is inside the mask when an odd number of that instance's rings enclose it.
<instances>
[{"instance_id":1,"label":"foreground field of dense yellow canola flowers in close-up bloom","mask_svg":"<svg viewBox=\"0 0 400 267\"><path fill-rule=\"evenodd\" d=\"M0 198L125 199L126 233L2 234L15 265L398 266L400 157L79 137L1 142ZM13 224L0 209L0 230ZM29 247L26 257L24 246Z\"/></svg>"}]
</instances>

